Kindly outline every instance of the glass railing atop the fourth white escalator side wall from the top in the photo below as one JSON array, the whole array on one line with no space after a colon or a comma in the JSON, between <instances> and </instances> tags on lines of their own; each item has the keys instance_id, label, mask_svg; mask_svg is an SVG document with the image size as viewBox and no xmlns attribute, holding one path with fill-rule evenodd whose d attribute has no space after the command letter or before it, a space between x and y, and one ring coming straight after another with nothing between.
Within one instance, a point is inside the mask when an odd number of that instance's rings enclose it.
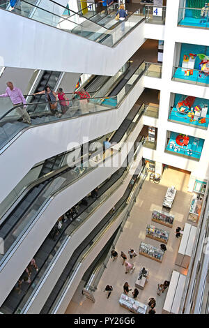
<instances>
[{"instance_id":1,"label":"glass railing atop the fourth white escalator side wall from the top","mask_svg":"<svg viewBox=\"0 0 209 328\"><path fill-rule=\"evenodd\" d=\"M141 149L141 143L137 146L137 149L134 151L134 156L139 154L139 151ZM128 155L130 156L130 154ZM38 271L38 275L36 276L35 280L33 280L33 283L31 284L28 292L24 296L24 298L21 301L21 304L18 305L18 310L21 308L22 313L25 311L28 304L33 299L33 296L36 295L36 292L42 285L43 281L45 281L45 278L47 277L47 273L49 272L49 268L52 267L53 262L56 260L56 258L59 257L63 247L65 246L65 243L68 241L68 237L72 236L72 234L75 234L75 232L81 227L81 225L84 225L86 221L88 221L89 218L97 211L104 202L107 202L109 197L111 197L116 190L123 184L124 179L127 177L128 174L130 174L130 167L132 167L132 164L134 163L134 156L132 156L132 160L130 163L128 163L127 167L125 168L125 171L119 177L118 181L116 181L114 184L112 184L109 188L107 188L106 191L97 199L93 204L88 206L88 208L82 212L82 214L79 215L79 218L68 227L65 228L65 232L61 235L59 238L58 243L56 244L53 251L49 254L48 260L42 265L42 268Z\"/></svg>"}]
</instances>

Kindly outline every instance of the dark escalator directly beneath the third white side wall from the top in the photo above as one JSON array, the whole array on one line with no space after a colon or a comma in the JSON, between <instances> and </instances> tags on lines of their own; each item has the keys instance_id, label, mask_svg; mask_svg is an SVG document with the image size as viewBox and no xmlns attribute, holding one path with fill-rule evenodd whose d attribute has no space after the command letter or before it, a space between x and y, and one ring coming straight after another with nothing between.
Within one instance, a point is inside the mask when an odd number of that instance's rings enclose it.
<instances>
[{"instance_id":1,"label":"dark escalator directly beneath the third white side wall from the top","mask_svg":"<svg viewBox=\"0 0 209 328\"><path fill-rule=\"evenodd\" d=\"M137 138L137 140L134 142L134 149L137 148L138 143L141 141L141 136ZM102 197L104 193L107 194L111 193L113 191L112 188L114 188L114 184L117 184L117 186L120 186L118 182L120 182L120 179L122 179L123 174L127 171L127 167L124 165L121 168L118 169L109 179L104 181L98 190L98 197ZM119 181L118 181L119 180ZM100 199L100 198L99 198ZM95 204L95 205L94 205ZM97 200L93 199L91 196L87 195L84 197L84 199L79 202L79 208L77 210L77 217L78 218L84 218L84 216L88 216L89 211L91 209L95 208L97 205ZM68 218L68 221L65 221L63 223L63 227L61 230L61 233L59 234L59 238L56 240L53 240L52 237L50 237L50 233L43 242L43 244L40 246L38 252L34 256L36 260L36 264L38 265L39 271L32 273L31 276L31 284L27 285L24 284L21 295L17 295L17 292L13 290L10 292L10 295L8 295L6 301L4 301L3 305L1 306L0 310L3 313L15 313L15 311L18 311L18 308L22 308L23 304L26 303L26 300L29 299L29 296L33 292L34 287L37 285L42 273L47 268L50 260L52 260L52 257L55 255L56 251L61 246L61 243L63 241L63 238L65 237L65 233L70 233L69 229L72 231L75 229L75 221L77 219ZM105 221L106 222L106 221ZM25 276L25 274L22 274L22 278Z\"/></svg>"}]
</instances>

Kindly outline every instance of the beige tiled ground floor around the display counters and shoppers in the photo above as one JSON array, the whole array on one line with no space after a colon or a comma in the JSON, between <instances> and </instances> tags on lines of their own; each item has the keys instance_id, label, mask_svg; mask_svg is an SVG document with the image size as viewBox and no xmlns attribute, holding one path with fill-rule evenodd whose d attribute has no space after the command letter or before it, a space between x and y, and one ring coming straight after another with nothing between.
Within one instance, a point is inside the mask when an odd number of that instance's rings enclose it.
<instances>
[{"instance_id":1,"label":"beige tiled ground floor around the display counters and shoppers","mask_svg":"<svg viewBox=\"0 0 209 328\"><path fill-rule=\"evenodd\" d=\"M118 253L123 251L127 255L130 247L137 251L137 257L130 260L130 262L134 262L134 272L132 274L125 274L125 267L121 265L121 258L118 258L114 262L110 259L107 269L104 270L100 283L98 284L98 290L95 291L95 303L93 304L88 299L84 299L79 303L75 301L76 297L74 297L65 313L129 313L125 308L119 306L118 299L123 292L125 281L129 283L132 290L134 289L134 283L141 266L149 270L149 278L144 290L139 290L138 299L144 304L147 304L149 297L155 297L157 301L156 313L162 313L166 292L161 296L157 296L157 283L170 280L173 269L187 274L186 269L175 265L178 246L180 244L180 239L176 239L175 231L178 225L183 228L187 221L189 203L192 197L192 194L187 192L188 183L189 174L173 169L164 171L160 184L154 184L146 179L142 191L137 197L137 202L134 204L130 217L125 223L123 232L116 244L116 251ZM146 237L146 225L152 222L151 213L153 209L162 209L162 202L167 188L173 185L177 189L176 198L171 209L171 214L175 216L173 228L167 228L164 225L153 223L158 228L170 232L167 251L164 254L162 263L159 263L143 255L139 255L139 244L141 241L145 241L148 244L160 247L159 241ZM106 298L107 295L103 292L107 284L113 285L114 287L114 291L111 293L109 299ZM130 296L131 293L129 293Z\"/></svg>"}]
</instances>

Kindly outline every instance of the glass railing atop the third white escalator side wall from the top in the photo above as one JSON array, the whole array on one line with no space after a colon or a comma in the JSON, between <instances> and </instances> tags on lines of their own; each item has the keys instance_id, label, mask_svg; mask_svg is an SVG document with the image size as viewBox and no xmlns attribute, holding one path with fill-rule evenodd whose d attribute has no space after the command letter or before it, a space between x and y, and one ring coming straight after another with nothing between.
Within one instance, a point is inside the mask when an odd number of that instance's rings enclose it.
<instances>
[{"instance_id":1,"label":"glass railing atop the third white escalator side wall from the top","mask_svg":"<svg viewBox=\"0 0 209 328\"><path fill-rule=\"evenodd\" d=\"M134 124L134 126L136 124ZM130 133L132 132L132 129L133 128L130 129ZM129 135L127 135L127 137ZM126 140L124 140L124 142ZM101 149L98 152L100 153ZM119 154L119 151L114 152L114 154ZM49 203L54 199L55 195L63 191L65 188L68 188L69 186L74 184L75 181L88 174L102 163L104 163L103 165L105 165L105 161L107 161L108 159L110 160L112 156L114 156L114 154L111 154L109 152L109 149L107 149L107 154L105 152L104 156L102 158L99 158L98 161L94 161L93 156L91 156L91 162L88 161L88 158L84 159L83 163L80 163L79 160L79 164L77 164L75 168L70 167L69 170L63 172L63 176L61 174L59 177L55 177L55 179L50 181L49 184L47 184L47 188L45 188L44 191L42 191L40 195L38 195L36 200L33 202L31 207L29 208L29 211L26 211L26 213L22 216L21 224L18 225L18 228L15 228L15 233L13 233L13 240L8 238L10 236L11 231L6 234L6 239L4 239L5 254L1 259L0 265L3 266L5 262L7 262L8 258L13 255L15 248L20 243L20 240L22 239L24 234L27 232L27 230L29 230L31 225L38 220L38 217L42 214L43 211L45 211ZM95 154L95 156L97 156L97 154ZM92 163L93 167L91 166ZM74 165L76 165L76 163ZM11 228L11 230L13 229L14 227Z\"/></svg>"}]
</instances>

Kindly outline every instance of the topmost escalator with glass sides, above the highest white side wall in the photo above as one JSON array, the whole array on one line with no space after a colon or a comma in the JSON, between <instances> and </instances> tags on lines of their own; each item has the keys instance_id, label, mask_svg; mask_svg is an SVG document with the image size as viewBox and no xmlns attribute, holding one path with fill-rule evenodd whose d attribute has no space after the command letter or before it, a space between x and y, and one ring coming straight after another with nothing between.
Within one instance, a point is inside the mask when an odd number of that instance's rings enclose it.
<instances>
[{"instance_id":1,"label":"topmost escalator with glass sides, above the highest white side wall","mask_svg":"<svg viewBox=\"0 0 209 328\"><path fill-rule=\"evenodd\" d=\"M3 8L3 6L0 8ZM8 10L8 8L6 9ZM40 5L35 0L21 0L15 5L15 13L18 15L29 17L30 19L62 29L63 31L74 33L77 36L88 38L88 40L108 45L109 47L112 47L118 40L123 38L120 35L120 29L117 29L121 22L116 22L116 12L114 9L110 15L101 17L98 14L94 15L92 19L84 17L80 12L76 13L74 10L70 10L71 15L65 17L63 13L66 10L69 11L67 7L52 0L45 0ZM125 33L137 27L144 20L144 15L140 15L139 10L136 10L135 13L130 13L128 18L130 24L128 24Z\"/></svg>"}]
</instances>

